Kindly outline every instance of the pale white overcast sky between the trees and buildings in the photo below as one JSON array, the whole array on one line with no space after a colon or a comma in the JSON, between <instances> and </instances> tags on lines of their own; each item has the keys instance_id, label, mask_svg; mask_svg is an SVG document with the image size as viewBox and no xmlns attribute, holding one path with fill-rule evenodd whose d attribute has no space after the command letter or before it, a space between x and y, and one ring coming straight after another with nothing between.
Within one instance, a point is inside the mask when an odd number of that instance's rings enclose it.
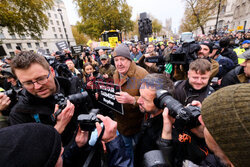
<instances>
[{"instance_id":1,"label":"pale white overcast sky between the trees and buildings","mask_svg":"<svg viewBox=\"0 0 250 167\"><path fill-rule=\"evenodd\" d=\"M63 0L69 22L75 25L79 21L76 6L72 0ZM172 18L172 30L177 31L180 25L181 18L184 13L183 0L127 0L129 6L133 8L132 20L135 21L140 13L150 13L154 18L157 18L165 26L165 20Z\"/></svg>"}]
</instances>

